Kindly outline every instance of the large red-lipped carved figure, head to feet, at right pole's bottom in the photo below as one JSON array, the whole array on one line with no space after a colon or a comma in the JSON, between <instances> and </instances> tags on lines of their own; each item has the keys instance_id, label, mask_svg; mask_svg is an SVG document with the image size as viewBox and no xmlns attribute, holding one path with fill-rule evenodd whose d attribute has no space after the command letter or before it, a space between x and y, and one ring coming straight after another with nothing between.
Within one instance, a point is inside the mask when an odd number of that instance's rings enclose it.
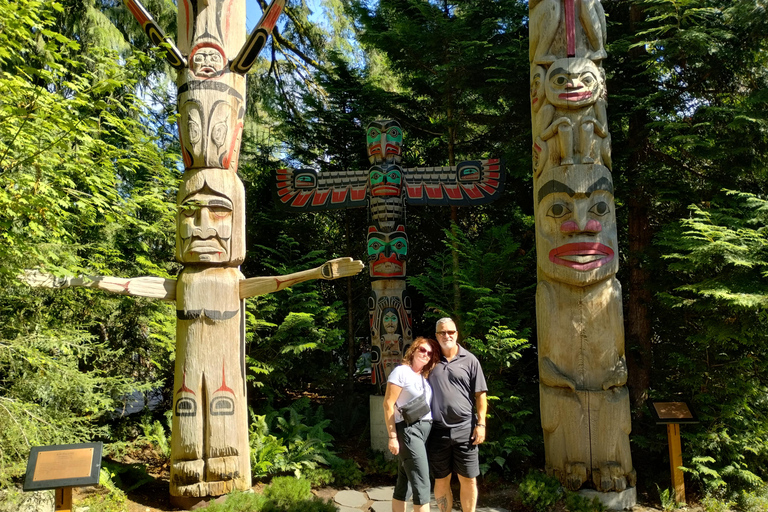
<instances>
[{"instance_id":1,"label":"large red-lipped carved figure, head to feet, at right pole's bottom","mask_svg":"<svg viewBox=\"0 0 768 512\"><path fill-rule=\"evenodd\" d=\"M635 485L613 182L601 165L536 184L536 289L547 471L576 490Z\"/></svg>"}]
</instances>

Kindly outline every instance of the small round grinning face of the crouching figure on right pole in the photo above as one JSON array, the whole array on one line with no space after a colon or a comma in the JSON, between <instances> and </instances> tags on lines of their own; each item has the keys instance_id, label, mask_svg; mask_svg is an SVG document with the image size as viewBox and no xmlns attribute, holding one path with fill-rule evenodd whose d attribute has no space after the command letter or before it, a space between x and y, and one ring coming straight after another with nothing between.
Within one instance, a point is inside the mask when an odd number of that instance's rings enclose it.
<instances>
[{"instance_id":1,"label":"small round grinning face of the crouching figure on right pole","mask_svg":"<svg viewBox=\"0 0 768 512\"><path fill-rule=\"evenodd\" d=\"M578 109L593 105L602 93L602 77L589 59L559 59L545 80L547 99L556 107Z\"/></svg>"}]
</instances>

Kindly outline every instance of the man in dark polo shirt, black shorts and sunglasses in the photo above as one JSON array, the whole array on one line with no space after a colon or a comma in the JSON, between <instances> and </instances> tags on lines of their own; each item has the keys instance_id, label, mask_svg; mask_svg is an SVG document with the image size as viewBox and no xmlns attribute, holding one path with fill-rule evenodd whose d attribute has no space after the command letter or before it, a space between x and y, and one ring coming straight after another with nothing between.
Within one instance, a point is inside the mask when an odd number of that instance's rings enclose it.
<instances>
[{"instance_id":1,"label":"man in dark polo shirt, black shorts and sunglasses","mask_svg":"<svg viewBox=\"0 0 768 512\"><path fill-rule=\"evenodd\" d=\"M433 424L427 449L435 477L435 501L440 512L450 512L451 476L456 473L461 510L475 512L478 445L485 441L488 386L477 358L457 344L459 333L453 320L438 320L435 334L442 356L429 375Z\"/></svg>"}]
</instances>

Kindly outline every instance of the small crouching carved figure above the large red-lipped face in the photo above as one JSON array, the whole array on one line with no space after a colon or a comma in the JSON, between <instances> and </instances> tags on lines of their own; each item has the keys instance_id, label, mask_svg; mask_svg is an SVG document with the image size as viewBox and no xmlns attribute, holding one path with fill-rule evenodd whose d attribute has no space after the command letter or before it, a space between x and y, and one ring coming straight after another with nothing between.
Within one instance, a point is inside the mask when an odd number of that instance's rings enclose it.
<instances>
[{"instance_id":1,"label":"small crouching carved figure above the large red-lipped face","mask_svg":"<svg viewBox=\"0 0 768 512\"><path fill-rule=\"evenodd\" d=\"M547 71L544 90L547 104L539 107L534 128L546 128L534 137L547 143L551 165L602 163L610 169L602 70L589 59L557 60Z\"/></svg>"}]
</instances>

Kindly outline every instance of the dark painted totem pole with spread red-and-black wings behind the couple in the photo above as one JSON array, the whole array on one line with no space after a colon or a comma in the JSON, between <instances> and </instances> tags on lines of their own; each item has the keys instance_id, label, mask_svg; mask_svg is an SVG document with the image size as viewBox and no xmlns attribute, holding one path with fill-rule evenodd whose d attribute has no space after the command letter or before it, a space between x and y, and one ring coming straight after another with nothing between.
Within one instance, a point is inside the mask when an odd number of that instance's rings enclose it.
<instances>
[{"instance_id":1,"label":"dark painted totem pole with spread red-and-black wings behind the couple","mask_svg":"<svg viewBox=\"0 0 768 512\"><path fill-rule=\"evenodd\" d=\"M504 172L498 159L469 160L455 167L403 168L403 130L397 121L371 122L366 143L370 169L322 173L280 169L275 194L277 204L289 211L369 208L371 379L383 386L413 341L405 281L406 205L489 203L501 195Z\"/></svg>"}]
</instances>

